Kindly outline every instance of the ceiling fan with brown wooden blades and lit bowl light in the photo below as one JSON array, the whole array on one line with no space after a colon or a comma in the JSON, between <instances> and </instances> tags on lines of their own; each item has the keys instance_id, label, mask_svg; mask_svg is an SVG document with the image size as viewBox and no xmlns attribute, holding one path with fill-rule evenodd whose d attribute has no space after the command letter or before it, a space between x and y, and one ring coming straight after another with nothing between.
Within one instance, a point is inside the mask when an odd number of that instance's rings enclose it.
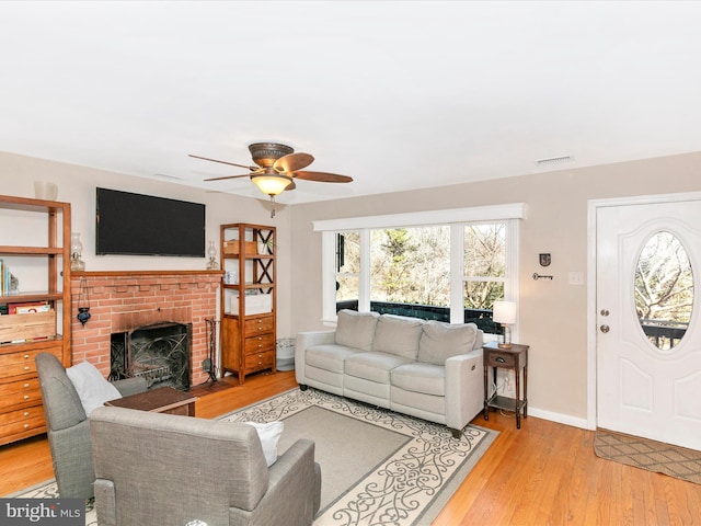
<instances>
[{"instance_id":1,"label":"ceiling fan with brown wooden blades and lit bowl light","mask_svg":"<svg viewBox=\"0 0 701 526\"><path fill-rule=\"evenodd\" d=\"M193 156L192 153L189 157L248 169L250 173L210 178L205 181L251 178L253 184L255 184L261 192L271 196L272 202L275 202L276 195L281 194L286 190L295 190L297 187L295 184L296 179L321 183L349 183L353 181L353 178L347 175L302 170L313 162L313 156L302 152L295 153L295 150L287 145L280 145L278 142L254 142L249 146L249 151L251 151L253 162L257 164L256 167ZM274 211L275 210L273 210L273 213Z\"/></svg>"}]
</instances>

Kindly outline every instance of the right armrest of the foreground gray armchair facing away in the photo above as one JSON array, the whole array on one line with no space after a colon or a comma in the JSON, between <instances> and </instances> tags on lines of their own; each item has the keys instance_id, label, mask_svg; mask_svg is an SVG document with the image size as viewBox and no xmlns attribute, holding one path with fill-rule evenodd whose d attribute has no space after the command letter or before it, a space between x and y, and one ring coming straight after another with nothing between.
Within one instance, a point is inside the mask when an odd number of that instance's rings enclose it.
<instances>
[{"instance_id":1,"label":"right armrest of the foreground gray armchair facing away","mask_svg":"<svg viewBox=\"0 0 701 526\"><path fill-rule=\"evenodd\" d=\"M263 499L248 512L229 508L229 524L309 524L321 502L321 469L314 462L314 443L299 439L268 469Z\"/></svg>"}]
</instances>

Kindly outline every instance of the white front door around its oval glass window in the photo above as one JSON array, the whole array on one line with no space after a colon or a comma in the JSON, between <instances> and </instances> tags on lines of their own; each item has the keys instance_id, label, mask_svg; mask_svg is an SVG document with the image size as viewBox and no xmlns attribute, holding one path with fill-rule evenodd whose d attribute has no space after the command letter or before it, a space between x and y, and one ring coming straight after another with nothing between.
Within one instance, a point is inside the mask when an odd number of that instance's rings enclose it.
<instances>
[{"instance_id":1,"label":"white front door around its oval glass window","mask_svg":"<svg viewBox=\"0 0 701 526\"><path fill-rule=\"evenodd\" d=\"M596 218L597 425L701 449L701 201L602 206ZM645 334L634 299L641 254L660 236L680 243L694 278L670 348Z\"/></svg>"}]
</instances>

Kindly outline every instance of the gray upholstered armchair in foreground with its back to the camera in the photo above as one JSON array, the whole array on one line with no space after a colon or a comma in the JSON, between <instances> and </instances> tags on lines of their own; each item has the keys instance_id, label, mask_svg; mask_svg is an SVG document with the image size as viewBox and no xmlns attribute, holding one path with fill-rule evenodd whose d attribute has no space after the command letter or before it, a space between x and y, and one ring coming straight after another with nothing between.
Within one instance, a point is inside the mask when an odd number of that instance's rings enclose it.
<instances>
[{"instance_id":1,"label":"gray upholstered armchair in foreground with its back to the camera","mask_svg":"<svg viewBox=\"0 0 701 526\"><path fill-rule=\"evenodd\" d=\"M321 470L297 441L269 468L245 424L97 408L90 415L101 526L310 526Z\"/></svg>"}]
</instances>

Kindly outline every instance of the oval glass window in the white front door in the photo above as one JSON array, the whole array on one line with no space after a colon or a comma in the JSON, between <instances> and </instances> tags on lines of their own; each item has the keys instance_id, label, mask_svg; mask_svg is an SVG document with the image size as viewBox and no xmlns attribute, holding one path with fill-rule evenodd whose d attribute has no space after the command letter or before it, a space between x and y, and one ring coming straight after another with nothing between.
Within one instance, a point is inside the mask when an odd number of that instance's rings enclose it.
<instances>
[{"instance_id":1,"label":"oval glass window in the white front door","mask_svg":"<svg viewBox=\"0 0 701 526\"><path fill-rule=\"evenodd\" d=\"M683 338L693 308L689 255L670 232L655 233L637 259L635 310L651 343L669 351Z\"/></svg>"}]
</instances>

